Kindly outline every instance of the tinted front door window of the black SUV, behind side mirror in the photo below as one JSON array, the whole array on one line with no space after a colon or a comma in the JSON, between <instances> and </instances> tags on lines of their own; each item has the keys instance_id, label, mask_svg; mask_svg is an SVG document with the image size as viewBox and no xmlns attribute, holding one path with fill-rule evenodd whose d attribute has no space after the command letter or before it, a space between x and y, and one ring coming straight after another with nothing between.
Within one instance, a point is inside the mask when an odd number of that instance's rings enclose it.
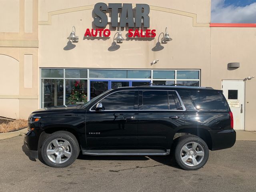
<instances>
[{"instance_id":1,"label":"tinted front door window of the black SUV, behind side mirror","mask_svg":"<svg viewBox=\"0 0 256 192\"><path fill-rule=\"evenodd\" d=\"M134 96L138 91L119 91L101 100L104 110L133 110Z\"/></svg>"}]
</instances>

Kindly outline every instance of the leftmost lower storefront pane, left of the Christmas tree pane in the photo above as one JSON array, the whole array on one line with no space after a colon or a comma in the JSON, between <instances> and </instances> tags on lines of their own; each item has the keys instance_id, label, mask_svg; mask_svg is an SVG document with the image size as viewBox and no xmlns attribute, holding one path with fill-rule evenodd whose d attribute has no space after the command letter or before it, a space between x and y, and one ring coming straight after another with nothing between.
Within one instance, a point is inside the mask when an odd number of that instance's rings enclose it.
<instances>
[{"instance_id":1,"label":"leftmost lower storefront pane, left of the Christmas tree pane","mask_svg":"<svg viewBox=\"0 0 256 192\"><path fill-rule=\"evenodd\" d=\"M63 105L63 80L42 79L42 107Z\"/></svg>"}]
</instances>

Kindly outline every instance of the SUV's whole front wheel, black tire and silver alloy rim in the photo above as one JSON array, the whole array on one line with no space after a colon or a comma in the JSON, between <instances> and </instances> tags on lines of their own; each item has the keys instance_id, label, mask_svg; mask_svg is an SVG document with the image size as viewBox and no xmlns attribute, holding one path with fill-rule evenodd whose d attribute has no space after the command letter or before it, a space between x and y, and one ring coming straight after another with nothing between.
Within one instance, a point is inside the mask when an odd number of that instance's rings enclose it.
<instances>
[{"instance_id":1,"label":"SUV's whole front wheel, black tire and silver alloy rim","mask_svg":"<svg viewBox=\"0 0 256 192\"><path fill-rule=\"evenodd\" d=\"M67 167L76 160L78 154L78 142L70 132L54 132L42 142L42 159L50 167Z\"/></svg>"}]
</instances>

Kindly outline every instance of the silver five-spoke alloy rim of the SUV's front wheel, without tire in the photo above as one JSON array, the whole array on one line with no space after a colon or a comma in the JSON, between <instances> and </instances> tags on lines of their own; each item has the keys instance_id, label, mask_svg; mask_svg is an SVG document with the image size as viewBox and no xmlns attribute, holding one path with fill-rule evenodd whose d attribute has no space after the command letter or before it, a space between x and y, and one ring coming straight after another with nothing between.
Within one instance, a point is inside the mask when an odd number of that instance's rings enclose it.
<instances>
[{"instance_id":1,"label":"silver five-spoke alloy rim of the SUV's front wheel, without tire","mask_svg":"<svg viewBox=\"0 0 256 192\"><path fill-rule=\"evenodd\" d=\"M65 139L54 139L48 144L46 154L52 162L64 163L71 157L72 147Z\"/></svg>"}]
</instances>

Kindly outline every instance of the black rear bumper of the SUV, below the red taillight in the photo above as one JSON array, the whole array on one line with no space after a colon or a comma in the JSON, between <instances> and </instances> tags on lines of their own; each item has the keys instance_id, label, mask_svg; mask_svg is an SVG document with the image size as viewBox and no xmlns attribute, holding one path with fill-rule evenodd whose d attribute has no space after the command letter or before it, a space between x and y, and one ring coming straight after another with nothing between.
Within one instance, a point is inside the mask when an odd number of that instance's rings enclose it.
<instances>
[{"instance_id":1,"label":"black rear bumper of the SUV, below the red taillight","mask_svg":"<svg viewBox=\"0 0 256 192\"><path fill-rule=\"evenodd\" d=\"M212 137L212 151L226 149L232 147L236 142L236 131L230 130L214 130L209 131Z\"/></svg>"}]
</instances>

